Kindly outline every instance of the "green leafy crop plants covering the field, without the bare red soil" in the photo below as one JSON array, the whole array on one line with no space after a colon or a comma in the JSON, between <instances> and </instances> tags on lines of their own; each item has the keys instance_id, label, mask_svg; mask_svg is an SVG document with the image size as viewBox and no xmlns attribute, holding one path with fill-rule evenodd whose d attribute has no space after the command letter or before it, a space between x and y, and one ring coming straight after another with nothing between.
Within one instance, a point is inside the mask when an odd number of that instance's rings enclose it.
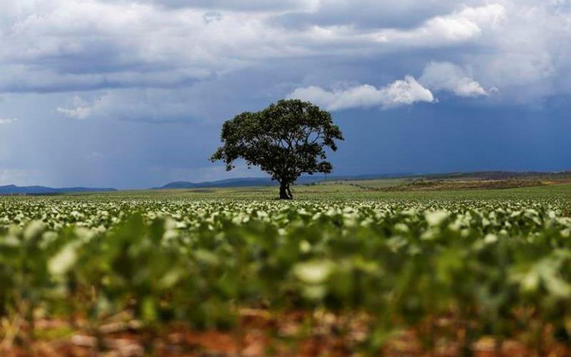
<instances>
[{"instance_id":1,"label":"green leafy crop plants covering the field, without the bare red soil","mask_svg":"<svg viewBox=\"0 0 571 357\"><path fill-rule=\"evenodd\" d=\"M6 327L16 318L81 320L91 335L121 314L147 331L222 331L254 308L365 316L351 345L364 351L414 331L422 349L449 341L470 351L492 336L542 354L571 341L571 205L518 192L2 198L0 340L25 333Z\"/></svg>"}]
</instances>

